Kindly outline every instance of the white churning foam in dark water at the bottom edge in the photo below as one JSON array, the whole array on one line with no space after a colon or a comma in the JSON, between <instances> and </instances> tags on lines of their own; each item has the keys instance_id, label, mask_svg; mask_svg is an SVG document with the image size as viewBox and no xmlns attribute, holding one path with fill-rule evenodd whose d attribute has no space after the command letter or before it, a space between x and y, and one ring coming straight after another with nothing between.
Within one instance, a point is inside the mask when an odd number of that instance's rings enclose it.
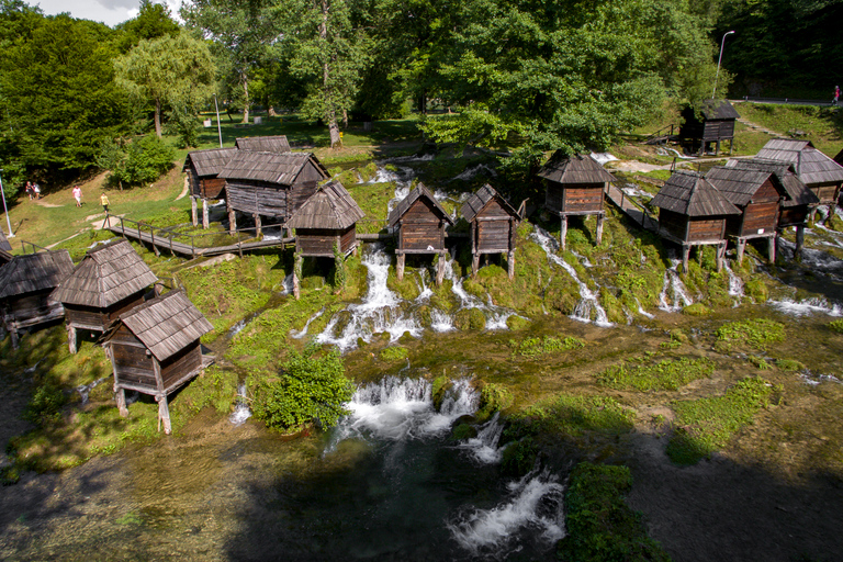
<instances>
[{"instance_id":1,"label":"white churning foam in dark water at the bottom edge","mask_svg":"<svg viewBox=\"0 0 843 562\"><path fill-rule=\"evenodd\" d=\"M555 476L531 472L509 488L506 502L461 514L448 525L457 542L473 555L506 559L518 551L513 541L521 529L540 531L548 548L564 538L564 486Z\"/></svg>"}]
</instances>

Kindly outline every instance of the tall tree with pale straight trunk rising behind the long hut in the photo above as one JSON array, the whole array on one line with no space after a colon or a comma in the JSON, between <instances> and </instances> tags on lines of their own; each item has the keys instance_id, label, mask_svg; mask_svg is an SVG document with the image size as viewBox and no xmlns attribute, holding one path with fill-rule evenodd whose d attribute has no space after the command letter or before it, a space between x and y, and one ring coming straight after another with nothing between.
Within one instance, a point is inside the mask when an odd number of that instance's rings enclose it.
<instances>
[{"instance_id":1,"label":"tall tree with pale straight trunk rising behind the long hut","mask_svg":"<svg viewBox=\"0 0 843 562\"><path fill-rule=\"evenodd\" d=\"M357 9L357 11L356 11ZM361 72L369 64L371 40L362 26L366 11L347 0L291 0L277 11L283 24L278 43L293 76L308 83L302 113L328 125L337 146L339 121L348 124Z\"/></svg>"}]
</instances>

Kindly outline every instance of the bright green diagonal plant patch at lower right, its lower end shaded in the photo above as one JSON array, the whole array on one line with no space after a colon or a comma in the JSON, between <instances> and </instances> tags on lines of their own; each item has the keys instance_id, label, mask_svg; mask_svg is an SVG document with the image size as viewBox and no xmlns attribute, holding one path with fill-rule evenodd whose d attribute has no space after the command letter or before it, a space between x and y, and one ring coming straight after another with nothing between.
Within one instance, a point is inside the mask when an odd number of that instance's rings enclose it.
<instances>
[{"instance_id":1,"label":"bright green diagonal plant patch at lower right, its lower end shaded","mask_svg":"<svg viewBox=\"0 0 843 562\"><path fill-rule=\"evenodd\" d=\"M723 396L674 402L678 427L667 443L667 456L678 464L708 458L751 424L760 409L769 406L777 392L782 389L764 379L744 379Z\"/></svg>"}]
</instances>

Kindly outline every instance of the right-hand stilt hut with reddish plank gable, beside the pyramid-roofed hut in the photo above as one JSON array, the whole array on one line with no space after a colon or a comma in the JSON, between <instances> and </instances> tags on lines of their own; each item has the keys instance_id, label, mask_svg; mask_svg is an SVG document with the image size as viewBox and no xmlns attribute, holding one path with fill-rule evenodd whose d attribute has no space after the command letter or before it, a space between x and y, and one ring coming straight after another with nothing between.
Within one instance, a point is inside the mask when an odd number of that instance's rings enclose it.
<instances>
[{"instance_id":1,"label":"right-hand stilt hut with reddish plank gable, beside the pyramid-roofed hut","mask_svg":"<svg viewBox=\"0 0 843 562\"><path fill-rule=\"evenodd\" d=\"M735 238L738 261L743 260L746 241L766 238L769 261L776 260L776 231L782 201L790 199L782 180L772 171L717 166L706 179L722 193L741 214L730 216L726 232Z\"/></svg>"}]
</instances>

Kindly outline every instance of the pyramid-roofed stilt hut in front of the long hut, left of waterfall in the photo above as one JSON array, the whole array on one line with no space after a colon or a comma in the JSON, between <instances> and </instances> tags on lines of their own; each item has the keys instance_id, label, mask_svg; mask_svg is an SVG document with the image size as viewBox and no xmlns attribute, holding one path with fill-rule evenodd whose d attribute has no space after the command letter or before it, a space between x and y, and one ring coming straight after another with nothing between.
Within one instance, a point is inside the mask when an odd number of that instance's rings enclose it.
<instances>
[{"instance_id":1,"label":"pyramid-roofed stilt hut in front of the long hut, left of waterfall","mask_svg":"<svg viewBox=\"0 0 843 562\"><path fill-rule=\"evenodd\" d=\"M330 181L316 189L316 193L286 222L295 228L295 254L301 260L305 256L341 259L357 249L357 222L366 216L346 188L339 181ZM293 269L293 294L299 299L300 263Z\"/></svg>"}]
</instances>

